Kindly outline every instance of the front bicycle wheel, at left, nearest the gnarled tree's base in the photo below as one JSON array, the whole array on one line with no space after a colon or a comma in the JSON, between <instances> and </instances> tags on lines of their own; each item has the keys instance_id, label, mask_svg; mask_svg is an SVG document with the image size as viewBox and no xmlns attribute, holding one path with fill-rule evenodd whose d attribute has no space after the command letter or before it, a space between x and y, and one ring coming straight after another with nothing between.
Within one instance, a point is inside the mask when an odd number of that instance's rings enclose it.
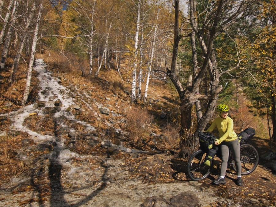
<instances>
[{"instance_id":1,"label":"front bicycle wheel, at left, nearest the gnarled tree's base","mask_svg":"<svg viewBox=\"0 0 276 207\"><path fill-rule=\"evenodd\" d=\"M202 180L210 174L210 167L204 164L205 156L206 152L197 150L188 160L187 173L194 181Z\"/></svg>"}]
</instances>

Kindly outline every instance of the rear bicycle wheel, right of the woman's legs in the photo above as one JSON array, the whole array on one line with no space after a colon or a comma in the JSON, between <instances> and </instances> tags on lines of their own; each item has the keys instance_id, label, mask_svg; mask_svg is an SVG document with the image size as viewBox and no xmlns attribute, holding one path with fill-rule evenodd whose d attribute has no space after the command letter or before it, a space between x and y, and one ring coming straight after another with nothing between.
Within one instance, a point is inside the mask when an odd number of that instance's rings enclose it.
<instances>
[{"instance_id":1,"label":"rear bicycle wheel, right of the woman's legs","mask_svg":"<svg viewBox=\"0 0 276 207\"><path fill-rule=\"evenodd\" d=\"M240 146L240 161L242 165L242 175L247 175L253 172L259 164L259 154L258 151L250 144L242 144ZM232 159L230 161L233 170L237 172L235 161Z\"/></svg>"}]
</instances>

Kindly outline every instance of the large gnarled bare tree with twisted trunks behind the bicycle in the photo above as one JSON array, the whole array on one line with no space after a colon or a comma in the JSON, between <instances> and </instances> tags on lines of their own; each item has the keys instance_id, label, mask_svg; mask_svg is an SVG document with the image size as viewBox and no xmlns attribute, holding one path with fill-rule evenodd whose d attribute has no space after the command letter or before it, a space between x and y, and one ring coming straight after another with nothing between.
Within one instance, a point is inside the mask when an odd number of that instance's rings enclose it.
<instances>
[{"instance_id":1,"label":"large gnarled bare tree with twisted trunks behind the bicycle","mask_svg":"<svg viewBox=\"0 0 276 207\"><path fill-rule=\"evenodd\" d=\"M194 77L190 75L186 86L183 86L175 70L178 45L183 35L182 25L179 23L179 0L174 1L174 44L171 68L167 68L167 74L178 91L181 101L179 107L182 126L181 147L192 147L195 144L194 141L197 138L198 132L204 130L212 117L217 105L218 94L222 90L222 86L219 85L220 74L217 68L216 47L214 44L216 37L225 31L230 33L233 25L252 12L250 7L254 5L254 2L255 0L189 1L189 24L191 30L187 37L190 36L192 42ZM197 55L196 47L201 49L201 56ZM206 73L208 73L207 77L209 77L210 90L207 94L199 94L199 86ZM191 130L192 107L195 103L199 104L198 101L200 100L207 100L208 105L202 117L198 120L197 129L194 133ZM199 107L200 105L197 106ZM193 133L195 136L192 136Z\"/></svg>"}]
</instances>

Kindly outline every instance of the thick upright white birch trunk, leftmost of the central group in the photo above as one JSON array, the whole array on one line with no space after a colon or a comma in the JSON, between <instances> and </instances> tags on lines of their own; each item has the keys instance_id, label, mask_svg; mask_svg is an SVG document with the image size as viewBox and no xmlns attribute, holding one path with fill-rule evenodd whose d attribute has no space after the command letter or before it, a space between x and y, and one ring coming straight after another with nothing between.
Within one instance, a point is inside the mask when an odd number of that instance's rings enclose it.
<instances>
[{"instance_id":1,"label":"thick upright white birch trunk, leftmost of the central group","mask_svg":"<svg viewBox=\"0 0 276 207\"><path fill-rule=\"evenodd\" d=\"M141 12L141 0L138 1L137 6L137 21L136 21L136 34L134 44L134 63L132 71L132 89L131 89L131 103L136 102L136 67L137 67L137 54L138 54L138 37L140 30L140 12Z\"/></svg>"}]
</instances>

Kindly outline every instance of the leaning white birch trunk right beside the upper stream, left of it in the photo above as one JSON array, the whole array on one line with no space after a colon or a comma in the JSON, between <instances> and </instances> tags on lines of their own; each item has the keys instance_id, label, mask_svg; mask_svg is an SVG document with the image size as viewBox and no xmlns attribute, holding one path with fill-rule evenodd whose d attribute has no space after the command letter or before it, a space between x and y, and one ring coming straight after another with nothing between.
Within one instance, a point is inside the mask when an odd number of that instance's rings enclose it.
<instances>
[{"instance_id":1,"label":"leaning white birch trunk right beside the upper stream, left of it","mask_svg":"<svg viewBox=\"0 0 276 207\"><path fill-rule=\"evenodd\" d=\"M37 14L37 19L36 19L36 28L35 28L34 35L33 35L32 51L31 51L31 56L30 56L26 86L25 86L24 95L23 95L23 99L22 99L22 105L26 105L26 103L28 101L28 97L29 97L31 79L32 79L32 71L33 71L34 55L36 52L37 35L38 35L38 31L39 31L39 24L40 24L42 8L43 8L43 3L41 2L40 6L39 6L38 14Z\"/></svg>"}]
</instances>

